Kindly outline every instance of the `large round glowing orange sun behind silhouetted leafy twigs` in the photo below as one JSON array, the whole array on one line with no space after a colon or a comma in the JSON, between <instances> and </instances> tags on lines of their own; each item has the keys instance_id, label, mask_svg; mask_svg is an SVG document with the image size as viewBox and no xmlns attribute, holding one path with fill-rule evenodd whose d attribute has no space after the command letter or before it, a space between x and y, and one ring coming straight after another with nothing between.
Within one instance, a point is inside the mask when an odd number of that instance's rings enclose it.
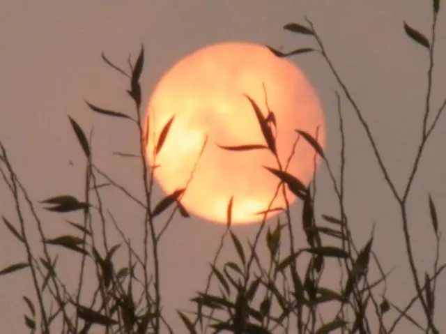
<instances>
[{"instance_id":1,"label":"large round glowing orange sun behind silhouetted leafy twigs","mask_svg":"<svg viewBox=\"0 0 446 334\"><path fill-rule=\"evenodd\" d=\"M153 165L154 146L171 119L162 150L156 155L155 178L170 194L187 190L187 211L213 222L226 222L233 196L233 224L261 220L279 179L263 166L278 169L268 149L229 151L220 146L266 145L251 98L264 117L275 114L276 146L282 166L294 151L287 172L308 185L314 175L315 151L295 130L304 130L325 146L325 121L318 97L305 75L267 47L221 43L205 47L176 63L155 87L147 108L150 126L146 155ZM317 136L316 136L317 134ZM207 141L206 141L207 139ZM204 143L206 146L199 158ZM293 146L294 149L293 149ZM316 165L319 158L316 158ZM289 202L295 197L289 192ZM284 207L279 194L272 207ZM270 213L269 216L274 213Z\"/></svg>"}]
</instances>

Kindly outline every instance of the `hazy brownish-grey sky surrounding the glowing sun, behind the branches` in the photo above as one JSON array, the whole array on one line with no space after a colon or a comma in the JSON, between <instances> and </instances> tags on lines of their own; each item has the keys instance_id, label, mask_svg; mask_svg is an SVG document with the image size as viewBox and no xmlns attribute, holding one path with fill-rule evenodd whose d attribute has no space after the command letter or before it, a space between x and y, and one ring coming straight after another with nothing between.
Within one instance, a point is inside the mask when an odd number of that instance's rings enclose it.
<instances>
[{"instance_id":1,"label":"hazy brownish-grey sky surrounding the glowing sun, behind the branches","mask_svg":"<svg viewBox=\"0 0 446 334\"><path fill-rule=\"evenodd\" d=\"M74 233L63 218L80 221L74 213L62 217L44 211L38 201L54 195L82 198L84 157L73 135L68 116L87 133L93 128L95 162L118 183L139 197L140 166L112 153L131 153L137 136L130 126L116 119L94 114L85 100L114 110L128 110L132 104L125 89L128 82L101 59L105 52L114 63L126 66L128 55L136 59L144 44L146 63L141 76L144 100L148 101L157 80L183 56L208 44L241 40L272 47L316 47L308 36L284 31L289 22L314 23L330 60L360 107L392 180L402 190L408 179L421 136L426 96L428 54L410 40L403 29L407 22L430 36L430 1L12 1L0 3L0 140L33 201L49 236ZM442 8L443 9L443 8ZM432 105L443 103L446 82L445 15L438 17ZM326 154L337 171L339 166L339 119L335 91L341 95L347 141L346 208L351 229L359 245L374 229L374 250L385 271L394 268L387 280L387 297L406 305L414 295L396 202L378 169L364 128L339 89L324 59L307 54L292 59L305 73L323 105L327 128ZM437 205L440 230L446 212L443 155L446 124L437 130L422 157L413 193L408 199L409 228L419 273L432 273L435 255L429 218L428 194ZM71 163L72 162L72 163ZM336 215L337 205L327 169L318 172L318 213ZM13 200L6 185L0 186L0 213L18 224ZM155 188L155 198L162 191ZM105 205L132 241L141 249L141 211L116 190L104 192ZM298 209L293 207L293 213ZM26 217L30 218L29 213ZM31 220L30 220L31 222ZM35 226L29 226L33 245L39 245ZM237 227L241 240L252 238L257 226ZM0 233L0 267L24 260L24 251L6 227ZM68 232L69 231L69 232ZM180 328L176 308L186 308L189 298L201 289L220 243L224 227L190 218L176 218L160 244L162 303L174 328ZM34 233L34 234L33 234ZM304 238L296 236L298 243ZM120 237L110 232L112 243ZM262 251L262 250L261 250ZM72 282L79 271L79 259L62 254L61 275ZM125 252L117 258L125 261ZM445 252L441 243L440 252ZM54 252L55 254L55 252ZM266 251L263 250L264 255ZM235 257L231 247L222 258ZM442 257L440 257L441 263ZM22 295L33 296L25 271L1 277L0 328L10 333L23 330L26 305ZM94 278L92 278L93 280ZM440 278L438 295L445 292ZM438 298L436 324L440 332L446 308ZM420 311L418 309L418 311ZM424 317L414 312L417 319ZM390 313L394 317L394 313ZM397 333L419 333L401 324Z\"/></svg>"}]
</instances>

